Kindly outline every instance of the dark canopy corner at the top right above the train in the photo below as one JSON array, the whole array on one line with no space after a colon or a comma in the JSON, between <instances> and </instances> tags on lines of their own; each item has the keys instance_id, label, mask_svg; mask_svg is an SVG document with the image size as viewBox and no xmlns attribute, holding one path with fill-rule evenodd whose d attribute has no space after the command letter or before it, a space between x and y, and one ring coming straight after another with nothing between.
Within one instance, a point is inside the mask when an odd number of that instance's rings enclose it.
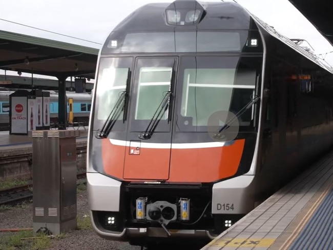
<instances>
[{"instance_id":1,"label":"dark canopy corner at the top right above the train","mask_svg":"<svg viewBox=\"0 0 333 250\"><path fill-rule=\"evenodd\" d=\"M333 45L333 15L331 1L289 0L317 30Z\"/></svg>"}]
</instances>

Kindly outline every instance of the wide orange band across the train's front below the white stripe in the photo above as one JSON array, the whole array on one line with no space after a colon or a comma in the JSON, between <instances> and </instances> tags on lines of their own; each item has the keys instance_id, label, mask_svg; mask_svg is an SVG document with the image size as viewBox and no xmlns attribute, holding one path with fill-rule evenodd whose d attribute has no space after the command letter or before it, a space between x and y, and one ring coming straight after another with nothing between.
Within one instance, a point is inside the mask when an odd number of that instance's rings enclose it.
<instances>
[{"instance_id":1,"label":"wide orange band across the train's front below the white stripe","mask_svg":"<svg viewBox=\"0 0 333 250\"><path fill-rule=\"evenodd\" d=\"M236 174L245 140L211 148L140 148L102 140L103 167L118 179L167 180L169 182L212 182ZM169 164L170 162L170 164ZM123 167L124 166L124 167Z\"/></svg>"}]
</instances>

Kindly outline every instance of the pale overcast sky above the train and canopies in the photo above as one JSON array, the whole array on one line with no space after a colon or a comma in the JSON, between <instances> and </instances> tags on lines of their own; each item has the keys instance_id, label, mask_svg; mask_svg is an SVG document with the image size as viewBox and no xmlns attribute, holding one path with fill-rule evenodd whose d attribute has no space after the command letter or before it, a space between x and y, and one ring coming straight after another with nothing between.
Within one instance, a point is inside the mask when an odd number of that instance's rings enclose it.
<instances>
[{"instance_id":1,"label":"pale overcast sky above the train and canopies","mask_svg":"<svg viewBox=\"0 0 333 250\"><path fill-rule=\"evenodd\" d=\"M227 1L225 0L225 2ZM0 30L100 48L107 35L123 18L138 7L153 2L171 3L173 1L7 0L1 3ZM207 0L203 2L207 2ZM210 2L219 2L219 0L211 0ZM236 2L283 35L289 38L307 40L316 54L333 50L316 28L288 0L236 0ZM3 20L78 37L94 43L71 39ZM325 60L333 65L333 53L327 54Z\"/></svg>"}]
</instances>

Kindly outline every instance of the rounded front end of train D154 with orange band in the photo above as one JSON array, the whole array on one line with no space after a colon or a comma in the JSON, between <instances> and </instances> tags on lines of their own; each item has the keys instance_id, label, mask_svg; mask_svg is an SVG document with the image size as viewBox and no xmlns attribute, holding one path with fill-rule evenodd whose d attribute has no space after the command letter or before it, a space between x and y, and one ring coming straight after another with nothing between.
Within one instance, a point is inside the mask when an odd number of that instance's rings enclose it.
<instances>
[{"instance_id":1,"label":"rounded front end of train D154 with orange band","mask_svg":"<svg viewBox=\"0 0 333 250\"><path fill-rule=\"evenodd\" d=\"M234 3L144 6L108 37L88 139L104 238L211 240L254 207L263 45Z\"/></svg>"}]
</instances>

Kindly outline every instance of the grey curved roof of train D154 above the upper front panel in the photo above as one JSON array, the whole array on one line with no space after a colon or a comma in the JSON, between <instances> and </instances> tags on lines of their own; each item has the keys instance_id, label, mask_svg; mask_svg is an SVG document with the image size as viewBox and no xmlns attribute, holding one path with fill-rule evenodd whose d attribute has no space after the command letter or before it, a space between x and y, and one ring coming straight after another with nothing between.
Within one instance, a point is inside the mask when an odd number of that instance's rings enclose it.
<instances>
[{"instance_id":1,"label":"grey curved roof of train D154 above the upper front panel","mask_svg":"<svg viewBox=\"0 0 333 250\"><path fill-rule=\"evenodd\" d=\"M179 6L179 10L188 9L192 5L192 9L201 6L204 14L198 18L195 25L176 24L170 25L166 20L166 11L175 11ZM178 8L178 7L177 7ZM178 9L177 9L178 11ZM178 17L177 17L178 18ZM106 43L102 47L102 54L117 53L116 50L110 50L110 42L114 37L124 37L127 33L137 32L174 32L187 30L257 30L260 27L268 34L272 35L288 47L297 51L310 61L319 65L326 71L333 73L331 66L326 64L318 56L306 51L303 47L295 44L287 37L277 32L273 27L264 23L257 16L253 15L241 5L233 2L197 2L195 0L176 0L173 3L152 3L147 4L132 12L127 18L119 23L109 35Z\"/></svg>"}]
</instances>

